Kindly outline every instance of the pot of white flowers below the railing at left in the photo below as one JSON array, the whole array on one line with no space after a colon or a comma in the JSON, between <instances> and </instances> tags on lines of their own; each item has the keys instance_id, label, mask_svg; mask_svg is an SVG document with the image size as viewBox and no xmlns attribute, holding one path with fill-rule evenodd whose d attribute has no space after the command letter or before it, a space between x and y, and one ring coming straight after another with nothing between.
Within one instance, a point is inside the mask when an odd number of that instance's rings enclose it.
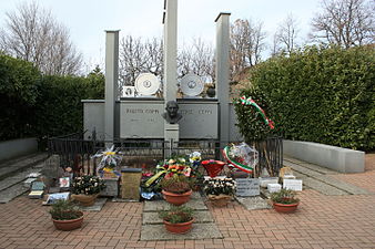
<instances>
[{"instance_id":1,"label":"pot of white flowers below the railing at left","mask_svg":"<svg viewBox=\"0 0 375 249\"><path fill-rule=\"evenodd\" d=\"M75 177L72 185L72 198L82 206L92 206L101 190L105 188L103 179L98 176Z\"/></svg>"}]
</instances>

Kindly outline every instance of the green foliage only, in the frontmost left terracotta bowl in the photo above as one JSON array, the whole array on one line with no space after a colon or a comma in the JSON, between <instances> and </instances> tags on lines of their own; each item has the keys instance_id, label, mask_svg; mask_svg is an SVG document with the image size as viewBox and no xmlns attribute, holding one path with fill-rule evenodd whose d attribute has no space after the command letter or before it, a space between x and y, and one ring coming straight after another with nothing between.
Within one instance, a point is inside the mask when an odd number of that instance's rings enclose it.
<instances>
[{"instance_id":1,"label":"green foliage only, in the frontmost left terracotta bowl","mask_svg":"<svg viewBox=\"0 0 375 249\"><path fill-rule=\"evenodd\" d=\"M78 207L71 200L59 199L52 204L52 208L49 210L52 219L70 220L82 217L82 212L78 210Z\"/></svg>"}]
</instances>

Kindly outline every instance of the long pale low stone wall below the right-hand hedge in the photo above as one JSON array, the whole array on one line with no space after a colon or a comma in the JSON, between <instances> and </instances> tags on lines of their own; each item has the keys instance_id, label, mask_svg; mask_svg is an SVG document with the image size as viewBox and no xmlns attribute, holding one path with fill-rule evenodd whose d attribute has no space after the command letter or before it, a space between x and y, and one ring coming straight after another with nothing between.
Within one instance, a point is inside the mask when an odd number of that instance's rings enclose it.
<instances>
[{"instance_id":1,"label":"long pale low stone wall below the right-hand hedge","mask_svg":"<svg viewBox=\"0 0 375 249\"><path fill-rule=\"evenodd\" d=\"M284 154L341 173L365 170L365 153L325 144L283 141Z\"/></svg>"}]
</instances>

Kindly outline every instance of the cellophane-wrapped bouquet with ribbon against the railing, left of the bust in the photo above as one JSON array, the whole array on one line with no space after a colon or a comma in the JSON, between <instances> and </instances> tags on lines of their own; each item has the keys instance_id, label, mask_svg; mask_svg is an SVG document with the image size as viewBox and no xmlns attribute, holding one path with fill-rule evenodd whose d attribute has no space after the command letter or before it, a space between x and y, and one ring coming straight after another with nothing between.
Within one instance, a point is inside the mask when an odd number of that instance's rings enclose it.
<instances>
[{"instance_id":1,"label":"cellophane-wrapped bouquet with ribbon against the railing, left of the bust","mask_svg":"<svg viewBox=\"0 0 375 249\"><path fill-rule=\"evenodd\" d=\"M97 152L92 158L101 157L99 166L97 168L97 175L101 177L115 177L121 176L118 167L121 163L122 156L119 153L119 148L114 149L114 145L111 148L105 148Z\"/></svg>"}]
</instances>

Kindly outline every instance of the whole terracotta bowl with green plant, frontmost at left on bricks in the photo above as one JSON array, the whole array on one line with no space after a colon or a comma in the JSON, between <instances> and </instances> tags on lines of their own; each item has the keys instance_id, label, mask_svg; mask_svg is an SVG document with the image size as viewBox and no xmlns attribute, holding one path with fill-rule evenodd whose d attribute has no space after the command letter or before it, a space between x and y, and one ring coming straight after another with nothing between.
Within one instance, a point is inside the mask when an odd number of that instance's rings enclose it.
<instances>
[{"instance_id":1,"label":"whole terracotta bowl with green plant, frontmost at left on bricks","mask_svg":"<svg viewBox=\"0 0 375 249\"><path fill-rule=\"evenodd\" d=\"M70 231L82 226L83 212L78 210L71 200L57 200L49 212L54 227L59 230Z\"/></svg>"}]
</instances>

